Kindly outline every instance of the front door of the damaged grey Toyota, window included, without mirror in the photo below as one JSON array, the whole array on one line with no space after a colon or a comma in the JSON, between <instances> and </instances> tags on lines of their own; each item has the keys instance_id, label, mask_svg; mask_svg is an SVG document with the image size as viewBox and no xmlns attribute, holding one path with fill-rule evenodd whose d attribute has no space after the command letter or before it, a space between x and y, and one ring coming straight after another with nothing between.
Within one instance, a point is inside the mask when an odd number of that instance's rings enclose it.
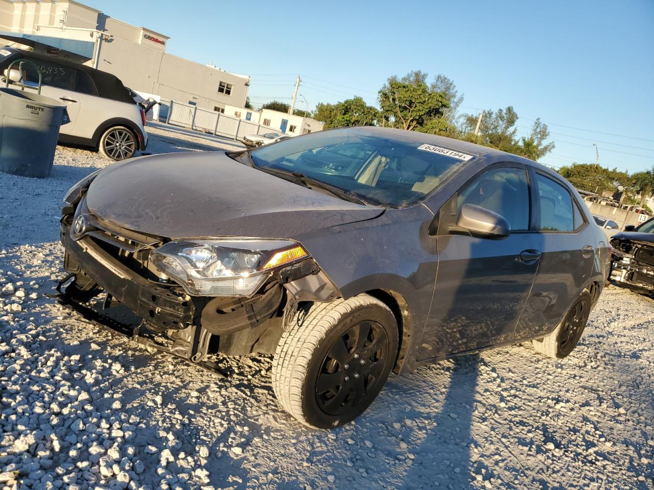
<instances>
[{"instance_id":1,"label":"front door of the damaged grey Toyota, window included, without mirror","mask_svg":"<svg viewBox=\"0 0 654 490\"><path fill-rule=\"evenodd\" d=\"M438 270L418 360L509 342L536 277L540 250L531 227L525 165L500 163L465 184L438 213ZM463 204L477 204L511 225L506 238L456 227Z\"/></svg>"}]
</instances>

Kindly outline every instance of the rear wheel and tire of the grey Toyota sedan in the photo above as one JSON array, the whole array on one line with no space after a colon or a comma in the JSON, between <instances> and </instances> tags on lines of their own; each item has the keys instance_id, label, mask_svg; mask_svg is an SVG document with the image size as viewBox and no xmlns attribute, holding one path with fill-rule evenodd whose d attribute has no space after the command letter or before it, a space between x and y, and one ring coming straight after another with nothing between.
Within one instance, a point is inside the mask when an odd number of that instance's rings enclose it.
<instances>
[{"instance_id":1,"label":"rear wheel and tire of the grey Toyota sedan","mask_svg":"<svg viewBox=\"0 0 654 490\"><path fill-rule=\"evenodd\" d=\"M591 294L584 289L557 328L543 338L532 340L534 349L553 359L563 359L570 355L586 327L591 305Z\"/></svg>"}]
</instances>

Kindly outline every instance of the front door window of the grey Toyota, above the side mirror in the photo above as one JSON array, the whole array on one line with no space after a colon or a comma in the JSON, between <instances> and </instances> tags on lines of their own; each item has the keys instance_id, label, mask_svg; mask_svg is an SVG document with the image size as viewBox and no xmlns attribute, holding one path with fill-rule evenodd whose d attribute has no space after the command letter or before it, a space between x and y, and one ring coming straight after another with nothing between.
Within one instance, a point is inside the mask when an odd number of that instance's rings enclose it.
<instances>
[{"instance_id":1,"label":"front door window of the grey Toyota, above the side mirror","mask_svg":"<svg viewBox=\"0 0 654 490\"><path fill-rule=\"evenodd\" d=\"M529 184L527 172L503 167L485 172L459 193L456 212L464 204L477 204L504 216L511 231L529 229Z\"/></svg>"}]
</instances>

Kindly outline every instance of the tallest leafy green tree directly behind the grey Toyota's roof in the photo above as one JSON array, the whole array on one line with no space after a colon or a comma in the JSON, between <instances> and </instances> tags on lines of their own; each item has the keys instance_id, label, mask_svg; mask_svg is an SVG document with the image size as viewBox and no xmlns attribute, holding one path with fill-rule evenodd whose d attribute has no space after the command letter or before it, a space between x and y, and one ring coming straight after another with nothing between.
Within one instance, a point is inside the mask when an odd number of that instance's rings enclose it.
<instances>
[{"instance_id":1,"label":"tallest leafy green tree directly behind the grey Toyota's roof","mask_svg":"<svg viewBox=\"0 0 654 490\"><path fill-rule=\"evenodd\" d=\"M382 125L409 131L433 130L438 126L433 120L443 118L447 98L442 92L432 90L426 78L422 71L388 78L379 90Z\"/></svg>"}]
</instances>

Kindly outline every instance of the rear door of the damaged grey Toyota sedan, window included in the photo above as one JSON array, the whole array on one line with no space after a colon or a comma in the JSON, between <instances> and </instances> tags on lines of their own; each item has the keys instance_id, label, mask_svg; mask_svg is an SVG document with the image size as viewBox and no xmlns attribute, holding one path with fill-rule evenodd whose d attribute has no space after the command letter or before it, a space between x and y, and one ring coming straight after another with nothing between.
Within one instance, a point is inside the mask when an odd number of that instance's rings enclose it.
<instances>
[{"instance_id":1,"label":"rear door of the damaged grey Toyota sedan, window included","mask_svg":"<svg viewBox=\"0 0 654 490\"><path fill-rule=\"evenodd\" d=\"M596 236L581 205L556 176L534 171L534 226L542 252L538 274L515 337L553 330L593 274Z\"/></svg>"}]
</instances>

